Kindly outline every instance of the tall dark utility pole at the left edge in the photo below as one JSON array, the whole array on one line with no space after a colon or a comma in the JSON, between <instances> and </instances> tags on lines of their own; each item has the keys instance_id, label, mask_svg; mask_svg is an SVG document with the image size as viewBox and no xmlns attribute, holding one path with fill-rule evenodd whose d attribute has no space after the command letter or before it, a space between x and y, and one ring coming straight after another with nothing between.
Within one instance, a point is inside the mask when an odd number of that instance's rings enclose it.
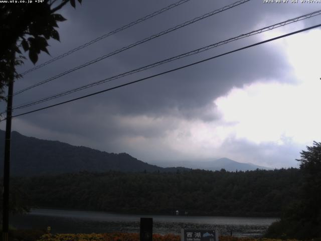
<instances>
[{"instance_id":1,"label":"tall dark utility pole at the left edge","mask_svg":"<svg viewBox=\"0 0 321 241\"><path fill-rule=\"evenodd\" d=\"M4 162L4 189L3 189L3 220L2 220L2 241L8 241L9 232L9 181L10 181L10 149L11 149L11 119L12 101L14 93L15 75L15 51L12 50L11 73L8 83L7 97L7 119L6 119L6 140L5 140L5 162Z\"/></svg>"}]
</instances>

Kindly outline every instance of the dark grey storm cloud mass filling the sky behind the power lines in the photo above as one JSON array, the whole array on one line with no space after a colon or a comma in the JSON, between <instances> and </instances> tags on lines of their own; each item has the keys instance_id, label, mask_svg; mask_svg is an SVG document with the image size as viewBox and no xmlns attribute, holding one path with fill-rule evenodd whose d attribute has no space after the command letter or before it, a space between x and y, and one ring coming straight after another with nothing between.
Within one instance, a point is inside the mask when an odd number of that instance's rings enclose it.
<instances>
[{"instance_id":1,"label":"dark grey storm cloud mass filling the sky behind the power lines","mask_svg":"<svg viewBox=\"0 0 321 241\"><path fill-rule=\"evenodd\" d=\"M233 2L235 1L192 0L181 7L119 32L26 75L24 79L16 82L15 89L22 89ZM68 20L60 24L61 43L51 41L49 51L53 57L58 56L171 3L173 1L84 1L83 5L77 6L76 10L71 7L65 8L61 13ZM14 104L62 92L132 70L312 12L314 9L313 5L272 5L252 0L68 74L51 83L34 88L16 96ZM316 22L315 19L309 21L311 25L314 22ZM112 83L66 96L61 100L91 93L117 83L136 80L258 41L260 41L259 37L255 36L233 42L199 55L158 66L144 73L128 76L124 80L115 80ZM48 59L50 56L44 54L39 63ZM21 71L31 67L32 64L26 62ZM110 152L114 148L114 152L116 152L121 149L121 145L124 145L122 143L123 137L162 138L166 131L174 130L177 126L177 123L166 121L159 123L159 125L137 129L137 125L132 126L121 122L122 117L140 115L162 118L175 116L181 119L213 121L219 116L215 111L208 111L208 109L213 108L212 101L215 98L226 94L232 87L242 87L244 84L258 79L292 81L285 77L288 77L288 71L291 70L283 53L272 48L270 44L265 44L74 103L22 116L19 119L26 125L35 126L42 130L49 130L56 134L61 133L61 135L69 134L73 137L70 139L72 143L77 144L76 137L81 136L83 137L82 145L86 145L87 141L87 146ZM58 100L48 103L55 102ZM40 105L40 107L45 105ZM38 106L29 109L36 107ZM16 113L21 112L23 110L16 111ZM13 128L15 129L15 127ZM23 130L20 131L23 132ZM37 133L34 136L37 136ZM67 141L67 139L61 141ZM139 152L136 150L136 153Z\"/></svg>"}]
</instances>

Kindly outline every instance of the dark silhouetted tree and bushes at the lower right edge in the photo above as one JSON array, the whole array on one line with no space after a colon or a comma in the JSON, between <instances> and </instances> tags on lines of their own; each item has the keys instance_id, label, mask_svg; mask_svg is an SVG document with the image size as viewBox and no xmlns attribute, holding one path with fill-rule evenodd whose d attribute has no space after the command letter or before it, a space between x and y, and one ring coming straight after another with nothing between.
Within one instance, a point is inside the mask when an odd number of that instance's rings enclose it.
<instances>
[{"instance_id":1,"label":"dark silhouetted tree and bushes at the lower right edge","mask_svg":"<svg viewBox=\"0 0 321 241\"><path fill-rule=\"evenodd\" d=\"M300 198L270 225L266 237L321 238L321 143L314 142L300 154Z\"/></svg>"}]
</instances>

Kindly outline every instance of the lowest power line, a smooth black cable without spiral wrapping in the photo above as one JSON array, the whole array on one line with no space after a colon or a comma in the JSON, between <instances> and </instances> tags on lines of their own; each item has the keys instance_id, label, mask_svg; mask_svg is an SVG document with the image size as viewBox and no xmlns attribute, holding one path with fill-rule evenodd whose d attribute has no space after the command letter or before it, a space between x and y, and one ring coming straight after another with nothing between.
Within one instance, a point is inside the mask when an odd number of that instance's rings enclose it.
<instances>
[{"instance_id":1,"label":"lowest power line, a smooth black cable without spiral wrapping","mask_svg":"<svg viewBox=\"0 0 321 241\"><path fill-rule=\"evenodd\" d=\"M192 65L203 63L203 62L211 60L211 59L215 59L215 58L218 58L218 57L221 57L221 56L224 56L224 55L228 55L228 54L240 51L240 50L251 48L251 47L254 47L254 46L257 46L257 45L260 45L260 44L271 42L271 41L274 41L274 40L277 40L277 39L280 39L280 38L284 38L284 37L287 37L287 36L290 36L290 35L293 35L293 34L301 33L301 32L304 32L304 31L307 31L307 30L310 30L310 29L314 29L314 28L317 28L317 27L321 27L321 24L314 25L312 27L301 29L301 30L298 30L298 31L295 31L295 32L291 32L291 33L288 33L288 34L284 34L284 35L281 35L281 36L278 36L278 37L275 37L275 38L271 38L271 39L268 39L268 40L264 40L264 41L261 41L261 42L255 43L255 44L251 44L251 45L248 45L248 46L236 49L236 50L232 50L232 51L226 52L224 54L219 54L219 55L216 55L214 57L203 59L201 61L197 61L197 62L188 64L188 65L184 65L184 66L181 66L181 67L178 67L178 68L175 68L175 69L171 69L171 70L168 70L168 71L165 71L165 72L162 72L162 73L154 74L154 75L151 75L151 76L148 76L148 77L145 77L145 78L141 78L141 79L138 79L138 80L135 80L135 81L131 81L131 82L128 82L128 83L125 83L125 84L117 85L117 86L114 86L114 87L111 87L111 88L108 88L108 89L104 89L104 90L100 90L100 91L97 91L97 92L94 92L94 93L91 93L91 94L83 95L83 96L78 97L78 98L73 98L73 99L70 99L70 100L67 100L67 101L63 101L63 102L60 102L60 103L52 104L52 105L49 105L49 106L46 106L46 107L42 107L42 108L39 108L39 109L35 109L35 110L31 110L31 111L24 112L24 113L21 113L21 114L13 115L12 117L17 117L17 116L21 116L21 115L37 112L37 111L40 111L40 110L43 110L43 109L48 109L48 108L51 108L51 107L54 107L54 106L58 106L58 105L61 105L61 104L65 104L65 103L69 103L69 102L72 102L72 101L75 101L75 100L78 100L78 99L83 99L83 98L86 98L86 97L89 97L89 96L92 96L92 95L96 95L96 94L100 94L100 93L103 93L103 92L106 92L106 91L117 89L117 88L120 88L120 87L123 87L123 86L126 86L126 85L134 84L134 83L146 80L146 79L150 79L150 78L153 78L153 77L156 77L156 76L160 76L160 75L163 75L163 74L174 72L174 71L177 71L179 69L184 69L184 68L190 67ZM5 119L3 119L2 121L4 121L4 120ZM0 122L2 122L2 121L0 121Z\"/></svg>"}]
</instances>

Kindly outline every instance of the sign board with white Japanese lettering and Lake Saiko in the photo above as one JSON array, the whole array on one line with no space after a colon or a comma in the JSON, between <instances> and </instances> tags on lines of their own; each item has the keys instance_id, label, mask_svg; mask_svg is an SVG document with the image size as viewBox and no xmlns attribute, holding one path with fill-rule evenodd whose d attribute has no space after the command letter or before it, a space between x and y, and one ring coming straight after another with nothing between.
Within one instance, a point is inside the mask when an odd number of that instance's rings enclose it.
<instances>
[{"instance_id":1,"label":"sign board with white Japanese lettering and Lake Saiko","mask_svg":"<svg viewBox=\"0 0 321 241\"><path fill-rule=\"evenodd\" d=\"M219 241L219 236L216 230L182 228L181 241Z\"/></svg>"}]
</instances>

